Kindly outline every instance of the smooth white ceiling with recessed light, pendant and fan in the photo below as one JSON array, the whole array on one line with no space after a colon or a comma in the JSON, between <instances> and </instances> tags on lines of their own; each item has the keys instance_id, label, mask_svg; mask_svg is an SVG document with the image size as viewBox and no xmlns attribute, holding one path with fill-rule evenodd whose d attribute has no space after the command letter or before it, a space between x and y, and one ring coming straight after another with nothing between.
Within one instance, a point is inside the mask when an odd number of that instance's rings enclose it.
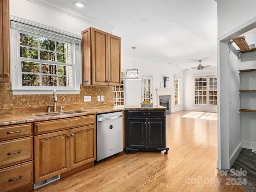
<instances>
[{"instance_id":1,"label":"smooth white ceiling with recessed light, pendant and fan","mask_svg":"<svg viewBox=\"0 0 256 192\"><path fill-rule=\"evenodd\" d=\"M33 1L33 0L31 0ZM181 69L217 65L214 0L34 0L108 28L121 37L122 57ZM76 8L74 2L85 8ZM108 32L108 31L107 31Z\"/></svg>"}]
</instances>

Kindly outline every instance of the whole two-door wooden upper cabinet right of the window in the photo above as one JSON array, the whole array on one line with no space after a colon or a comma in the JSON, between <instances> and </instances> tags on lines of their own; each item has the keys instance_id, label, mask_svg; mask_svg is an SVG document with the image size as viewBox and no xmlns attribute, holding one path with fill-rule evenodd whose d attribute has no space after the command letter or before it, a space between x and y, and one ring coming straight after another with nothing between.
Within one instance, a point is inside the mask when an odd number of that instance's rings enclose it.
<instances>
[{"instance_id":1,"label":"whole two-door wooden upper cabinet right of the window","mask_svg":"<svg viewBox=\"0 0 256 192\"><path fill-rule=\"evenodd\" d=\"M121 38L88 28L82 31L82 85L121 85Z\"/></svg>"}]
</instances>

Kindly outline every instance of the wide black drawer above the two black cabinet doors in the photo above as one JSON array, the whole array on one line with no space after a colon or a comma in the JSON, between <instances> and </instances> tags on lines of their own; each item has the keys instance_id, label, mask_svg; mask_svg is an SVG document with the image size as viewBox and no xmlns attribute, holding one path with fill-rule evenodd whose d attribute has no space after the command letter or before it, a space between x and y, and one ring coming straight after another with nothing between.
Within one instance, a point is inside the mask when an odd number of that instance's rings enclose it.
<instances>
[{"instance_id":1,"label":"wide black drawer above the two black cabinet doors","mask_svg":"<svg viewBox=\"0 0 256 192\"><path fill-rule=\"evenodd\" d=\"M128 118L165 118L166 110L128 110Z\"/></svg>"}]
</instances>

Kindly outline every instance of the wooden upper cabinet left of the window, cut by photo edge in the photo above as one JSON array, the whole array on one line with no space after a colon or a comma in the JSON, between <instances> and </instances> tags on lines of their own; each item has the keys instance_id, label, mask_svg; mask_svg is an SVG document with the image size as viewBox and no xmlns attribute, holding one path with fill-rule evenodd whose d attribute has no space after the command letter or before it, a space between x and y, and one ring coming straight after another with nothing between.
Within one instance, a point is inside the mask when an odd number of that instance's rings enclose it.
<instances>
[{"instance_id":1,"label":"wooden upper cabinet left of the window, cut by photo edge","mask_svg":"<svg viewBox=\"0 0 256 192\"><path fill-rule=\"evenodd\" d=\"M0 82L10 82L9 0L0 0Z\"/></svg>"}]
</instances>

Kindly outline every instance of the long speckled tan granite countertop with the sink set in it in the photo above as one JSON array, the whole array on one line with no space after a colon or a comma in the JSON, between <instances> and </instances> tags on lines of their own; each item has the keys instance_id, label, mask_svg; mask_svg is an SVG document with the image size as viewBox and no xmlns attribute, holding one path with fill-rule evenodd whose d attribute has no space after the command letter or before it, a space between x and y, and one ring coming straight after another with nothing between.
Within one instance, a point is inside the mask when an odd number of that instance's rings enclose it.
<instances>
[{"instance_id":1,"label":"long speckled tan granite countertop with the sink set in it","mask_svg":"<svg viewBox=\"0 0 256 192\"><path fill-rule=\"evenodd\" d=\"M67 111L64 110L63 112L52 112L52 113L44 112L44 113L36 113L36 114L6 115L6 116L0 116L0 126L94 115L94 114L100 114L100 113L115 112L120 110L158 110L158 109L163 110L163 109L166 109L166 107L163 107L160 105L153 105L152 107L146 107L146 108L141 106L106 106L106 107L94 107L94 108L78 109L78 110L67 110ZM38 116L38 115L59 114L64 112L75 112L75 111L77 111L78 113L56 115L56 116L54 115L54 116L46 116L46 117Z\"/></svg>"}]
</instances>

